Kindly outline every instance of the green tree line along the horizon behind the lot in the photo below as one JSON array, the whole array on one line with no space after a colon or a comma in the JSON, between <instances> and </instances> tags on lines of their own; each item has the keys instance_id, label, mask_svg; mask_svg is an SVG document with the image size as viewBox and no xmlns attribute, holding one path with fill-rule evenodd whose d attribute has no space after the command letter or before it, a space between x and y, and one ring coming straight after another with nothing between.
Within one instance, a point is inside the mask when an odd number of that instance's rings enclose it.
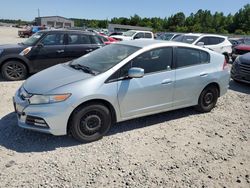
<instances>
[{"instance_id":1,"label":"green tree line along the horizon behind the lot","mask_svg":"<svg viewBox=\"0 0 250 188\"><path fill-rule=\"evenodd\" d=\"M198 10L185 16L178 12L170 17L142 18L135 14L130 18L114 17L111 20L89 20L71 18L76 27L107 28L109 23L142 26L153 28L154 32L198 32L198 33L221 33L250 35L250 4L245 5L234 15L224 15L222 12L211 13L209 10ZM24 24L29 23L22 20L3 20L0 22Z\"/></svg>"}]
</instances>

